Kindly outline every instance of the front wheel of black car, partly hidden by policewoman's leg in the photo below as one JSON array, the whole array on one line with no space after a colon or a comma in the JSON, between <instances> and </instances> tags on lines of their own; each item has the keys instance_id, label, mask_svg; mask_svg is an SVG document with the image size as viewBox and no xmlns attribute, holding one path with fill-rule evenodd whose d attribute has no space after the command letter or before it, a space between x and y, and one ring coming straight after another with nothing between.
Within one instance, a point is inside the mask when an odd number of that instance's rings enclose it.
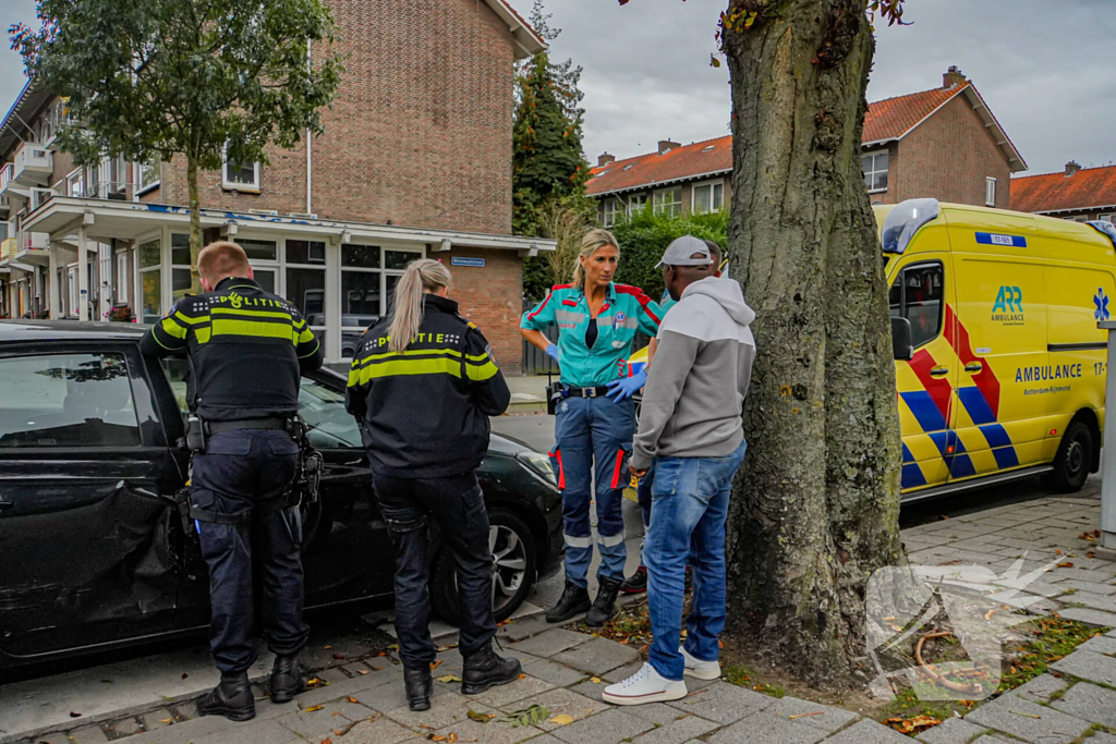
<instances>
[{"instance_id":1,"label":"front wheel of black car, partly hidden by policewoman's leg","mask_svg":"<svg viewBox=\"0 0 1116 744\"><path fill-rule=\"evenodd\" d=\"M506 509L489 512L493 539L489 541L496 558L493 566L492 616L497 622L507 620L519 609L535 583L538 549L535 535L518 514ZM458 625L461 605L458 599L458 573L453 551L443 547L431 564L430 601L434 613Z\"/></svg>"}]
</instances>

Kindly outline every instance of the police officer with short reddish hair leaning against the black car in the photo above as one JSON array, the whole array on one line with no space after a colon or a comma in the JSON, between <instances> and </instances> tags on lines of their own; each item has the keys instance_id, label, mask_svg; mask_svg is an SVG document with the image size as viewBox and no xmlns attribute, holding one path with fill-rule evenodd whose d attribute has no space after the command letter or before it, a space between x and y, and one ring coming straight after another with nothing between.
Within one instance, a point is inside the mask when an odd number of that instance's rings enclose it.
<instances>
[{"instance_id":1,"label":"police officer with short reddish hair leaning against the black car","mask_svg":"<svg viewBox=\"0 0 1116 744\"><path fill-rule=\"evenodd\" d=\"M271 702L285 703L304 689L298 653L308 628L301 522L288 503L299 458L291 431L301 374L321 366L321 348L290 302L252 280L235 243L208 245L198 271L204 293L180 300L144 335L141 349L189 356L191 425L200 424L204 437L192 460L190 516L209 566L210 647L221 684L198 703L198 713L248 721L256 715L248 683L257 657L253 559L263 588L263 630L276 654Z\"/></svg>"}]
</instances>

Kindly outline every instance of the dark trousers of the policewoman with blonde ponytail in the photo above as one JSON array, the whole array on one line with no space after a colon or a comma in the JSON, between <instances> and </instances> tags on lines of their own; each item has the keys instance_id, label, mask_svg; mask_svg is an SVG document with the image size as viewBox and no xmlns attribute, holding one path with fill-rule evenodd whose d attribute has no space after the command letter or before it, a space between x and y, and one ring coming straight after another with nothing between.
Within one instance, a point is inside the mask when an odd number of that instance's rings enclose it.
<instances>
[{"instance_id":1,"label":"dark trousers of the policewoman with blonde ponytail","mask_svg":"<svg viewBox=\"0 0 1116 744\"><path fill-rule=\"evenodd\" d=\"M430 636L427 519L437 522L458 564L458 648L462 656L474 654L496 635L489 519L477 474L411 480L373 473L373 480L395 544L395 634L403 666L425 668L437 655Z\"/></svg>"}]
</instances>

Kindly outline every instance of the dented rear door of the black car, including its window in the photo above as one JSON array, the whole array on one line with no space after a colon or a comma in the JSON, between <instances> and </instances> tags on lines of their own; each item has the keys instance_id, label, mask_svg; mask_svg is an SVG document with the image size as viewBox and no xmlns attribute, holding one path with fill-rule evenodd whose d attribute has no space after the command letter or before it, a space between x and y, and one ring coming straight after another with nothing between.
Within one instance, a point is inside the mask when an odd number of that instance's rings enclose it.
<instances>
[{"instance_id":1,"label":"dented rear door of the black car, including its window","mask_svg":"<svg viewBox=\"0 0 1116 744\"><path fill-rule=\"evenodd\" d=\"M0 649L173 629L181 473L134 344L0 349Z\"/></svg>"}]
</instances>

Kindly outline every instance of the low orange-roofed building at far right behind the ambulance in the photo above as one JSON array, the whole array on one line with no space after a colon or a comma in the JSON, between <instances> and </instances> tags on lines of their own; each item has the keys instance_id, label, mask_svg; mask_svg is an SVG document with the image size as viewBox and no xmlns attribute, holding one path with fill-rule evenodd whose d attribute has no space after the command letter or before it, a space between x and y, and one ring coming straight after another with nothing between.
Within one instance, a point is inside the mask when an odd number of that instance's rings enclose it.
<instances>
[{"instance_id":1,"label":"low orange-roofed building at far right behind the ambulance","mask_svg":"<svg viewBox=\"0 0 1116 744\"><path fill-rule=\"evenodd\" d=\"M1070 161L1058 173L1016 178L1011 209L1074 222L1116 222L1116 165L1083 168Z\"/></svg>"}]
</instances>

